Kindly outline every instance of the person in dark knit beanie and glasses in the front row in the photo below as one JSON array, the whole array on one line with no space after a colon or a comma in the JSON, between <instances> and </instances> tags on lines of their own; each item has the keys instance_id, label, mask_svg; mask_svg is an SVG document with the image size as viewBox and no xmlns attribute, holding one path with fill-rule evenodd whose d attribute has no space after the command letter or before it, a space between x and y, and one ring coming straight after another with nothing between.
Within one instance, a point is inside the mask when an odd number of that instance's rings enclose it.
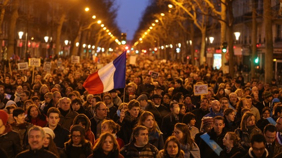
<instances>
[{"instance_id":1,"label":"person in dark knit beanie and glasses in the front row","mask_svg":"<svg viewBox=\"0 0 282 158\"><path fill-rule=\"evenodd\" d=\"M92 144L85 139L85 130L81 125L73 125L70 129L70 140L65 143L68 158L87 158L92 154Z\"/></svg>"}]
</instances>

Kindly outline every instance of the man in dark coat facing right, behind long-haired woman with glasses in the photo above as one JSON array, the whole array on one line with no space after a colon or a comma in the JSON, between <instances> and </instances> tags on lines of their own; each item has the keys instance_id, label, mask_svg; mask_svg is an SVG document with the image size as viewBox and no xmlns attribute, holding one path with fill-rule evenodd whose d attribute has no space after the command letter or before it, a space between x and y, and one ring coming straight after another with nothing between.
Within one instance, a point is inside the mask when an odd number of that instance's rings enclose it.
<instances>
[{"instance_id":1,"label":"man in dark coat facing right, behind long-haired woman with glasses","mask_svg":"<svg viewBox=\"0 0 282 158\"><path fill-rule=\"evenodd\" d=\"M176 123L182 123L184 115L180 114L180 107L177 102L170 103L170 113L162 118L161 131L163 132L163 140L171 136Z\"/></svg>"}]
</instances>

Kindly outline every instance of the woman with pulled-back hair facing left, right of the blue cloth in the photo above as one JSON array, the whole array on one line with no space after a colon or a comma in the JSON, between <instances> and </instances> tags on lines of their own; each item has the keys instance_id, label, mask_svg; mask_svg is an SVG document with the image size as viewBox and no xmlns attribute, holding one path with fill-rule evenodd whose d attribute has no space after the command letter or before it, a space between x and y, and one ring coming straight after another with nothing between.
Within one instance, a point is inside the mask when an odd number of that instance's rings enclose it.
<instances>
[{"instance_id":1,"label":"woman with pulled-back hair facing left, right of the blue cloth","mask_svg":"<svg viewBox=\"0 0 282 158\"><path fill-rule=\"evenodd\" d=\"M224 149L220 152L220 158L242 158L246 151L239 143L239 137L234 132L227 132L223 138Z\"/></svg>"}]
</instances>

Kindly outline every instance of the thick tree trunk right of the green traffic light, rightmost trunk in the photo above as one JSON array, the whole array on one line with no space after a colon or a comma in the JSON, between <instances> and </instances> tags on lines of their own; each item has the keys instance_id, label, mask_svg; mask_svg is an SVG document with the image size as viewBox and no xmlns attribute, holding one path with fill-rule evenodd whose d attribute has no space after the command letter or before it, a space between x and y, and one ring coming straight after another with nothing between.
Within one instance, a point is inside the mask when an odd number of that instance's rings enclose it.
<instances>
[{"instance_id":1,"label":"thick tree trunk right of the green traffic light, rightmost trunk","mask_svg":"<svg viewBox=\"0 0 282 158\"><path fill-rule=\"evenodd\" d=\"M273 79L273 37L272 37L272 9L271 0L264 0L265 24L265 82Z\"/></svg>"}]
</instances>

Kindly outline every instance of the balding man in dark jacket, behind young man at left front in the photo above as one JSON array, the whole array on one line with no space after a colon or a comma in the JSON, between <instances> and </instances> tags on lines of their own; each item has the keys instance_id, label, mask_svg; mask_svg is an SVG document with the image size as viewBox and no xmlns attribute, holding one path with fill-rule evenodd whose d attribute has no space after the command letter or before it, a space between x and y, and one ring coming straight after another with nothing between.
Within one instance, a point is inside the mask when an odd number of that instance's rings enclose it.
<instances>
[{"instance_id":1,"label":"balding man in dark jacket, behind young man at left front","mask_svg":"<svg viewBox=\"0 0 282 158\"><path fill-rule=\"evenodd\" d=\"M73 119L78 115L70 109L70 98L64 97L59 100L59 110L61 112L60 124L70 130Z\"/></svg>"}]
</instances>

